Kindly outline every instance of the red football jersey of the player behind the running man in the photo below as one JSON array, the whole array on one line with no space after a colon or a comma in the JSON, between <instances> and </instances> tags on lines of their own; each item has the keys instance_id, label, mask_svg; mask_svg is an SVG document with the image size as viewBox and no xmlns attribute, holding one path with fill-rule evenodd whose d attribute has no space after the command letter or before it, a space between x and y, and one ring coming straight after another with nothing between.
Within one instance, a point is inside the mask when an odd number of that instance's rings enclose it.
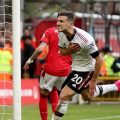
<instances>
[{"instance_id":1,"label":"red football jersey of the player behind the running man","mask_svg":"<svg viewBox=\"0 0 120 120\"><path fill-rule=\"evenodd\" d=\"M70 73L71 70L71 56L63 56L60 54L58 46L58 32L56 28L49 28L45 31L40 42L46 42L49 45L49 52L44 66L45 72L64 77Z\"/></svg>"}]
</instances>

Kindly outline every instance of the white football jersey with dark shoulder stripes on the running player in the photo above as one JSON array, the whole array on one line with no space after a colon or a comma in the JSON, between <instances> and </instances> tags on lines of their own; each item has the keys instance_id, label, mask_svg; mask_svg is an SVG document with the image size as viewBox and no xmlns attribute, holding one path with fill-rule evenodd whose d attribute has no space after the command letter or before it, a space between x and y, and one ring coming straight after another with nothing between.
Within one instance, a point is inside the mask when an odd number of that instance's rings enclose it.
<instances>
[{"instance_id":1,"label":"white football jersey with dark shoulder stripes on the running player","mask_svg":"<svg viewBox=\"0 0 120 120\"><path fill-rule=\"evenodd\" d=\"M76 28L76 34L71 40L72 43L78 43L80 50L72 53L72 70L75 71L94 71L95 59L90 55L98 51L93 37L84 30ZM70 41L63 32L59 33L59 46L67 48Z\"/></svg>"}]
</instances>

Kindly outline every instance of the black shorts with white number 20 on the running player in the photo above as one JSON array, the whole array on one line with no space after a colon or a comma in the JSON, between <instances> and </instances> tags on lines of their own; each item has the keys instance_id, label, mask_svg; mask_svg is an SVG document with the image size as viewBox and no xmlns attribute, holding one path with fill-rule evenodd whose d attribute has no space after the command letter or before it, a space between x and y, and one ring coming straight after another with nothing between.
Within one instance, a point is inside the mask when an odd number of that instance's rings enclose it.
<instances>
[{"instance_id":1,"label":"black shorts with white number 20 on the running player","mask_svg":"<svg viewBox=\"0 0 120 120\"><path fill-rule=\"evenodd\" d=\"M91 80L93 72L78 72L72 71L66 79L66 84L76 93L81 93L86 87L86 84Z\"/></svg>"}]
</instances>

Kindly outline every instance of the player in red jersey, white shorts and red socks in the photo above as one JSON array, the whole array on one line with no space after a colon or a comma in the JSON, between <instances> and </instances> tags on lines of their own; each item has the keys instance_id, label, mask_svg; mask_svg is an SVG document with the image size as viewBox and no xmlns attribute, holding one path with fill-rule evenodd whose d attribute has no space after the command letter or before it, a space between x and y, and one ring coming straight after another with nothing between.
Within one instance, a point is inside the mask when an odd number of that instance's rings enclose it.
<instances>
[{"instance_id":1,"label":"player in red jersey, white shorts and red socks","mask_svg":"<svg viewBox=\"0 0 120 120\"><path fill-rule=\"evenodd\" d=\"M48 52L46 49L48 49ZM40 45L26 62L24 69L27 69L37 56L39 56L40 62L44 63L44 70L40 78L39 109L42 120L47 120L48 95L50 95L50 102L54 113L58 105L56 88L61 90L62 83L71 69L71 56L62 56L59 52L56 28L49 28L45 31L40 40Z\"/></svg>"}]
</instances>

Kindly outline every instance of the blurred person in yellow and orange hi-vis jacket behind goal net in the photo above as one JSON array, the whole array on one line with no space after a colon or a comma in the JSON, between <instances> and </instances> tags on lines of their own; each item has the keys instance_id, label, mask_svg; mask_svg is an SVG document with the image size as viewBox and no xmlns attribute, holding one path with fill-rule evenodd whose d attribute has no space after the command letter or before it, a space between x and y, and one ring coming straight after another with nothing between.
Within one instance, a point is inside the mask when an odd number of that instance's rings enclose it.
<instances>
[{"instance_id":1,"label":"blurred person in yellow and orange hi-vis jacket behind goal net","mask_svg":"<svg viewBox=\"0 0 120 120\"><path fill-rule=\"evenodd\" d=\"M12 80L12 43L7 40L0 44L0 80Z\"/></svg>"}]
</instances>

